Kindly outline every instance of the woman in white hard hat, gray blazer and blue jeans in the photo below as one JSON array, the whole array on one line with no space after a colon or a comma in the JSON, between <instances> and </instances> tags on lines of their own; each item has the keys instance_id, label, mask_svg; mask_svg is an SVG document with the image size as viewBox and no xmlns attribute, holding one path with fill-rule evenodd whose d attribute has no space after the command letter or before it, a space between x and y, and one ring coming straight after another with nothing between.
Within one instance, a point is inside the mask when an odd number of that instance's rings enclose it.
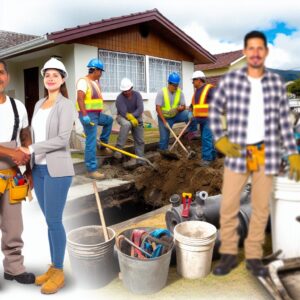
<instances>
[{"instance_id":1,"label":"woman in white hard hat, gray blazer and blue jeans","mask_svg":"<svg viewBox=\"0 0 300 300\"><path fill-rule=\"evenodd\" d=\"M36 277L35 283L42 286L42 293L52 294L64 285L66 233L62 215L74 175L68 146L76 113L72 101L67 99L68 73L63 63L51 58L41 74L45 98L34 108L33 144L21 150L32 155L34 190L48 225L51 265L45 274Z\"/></svg>"}]
</instances>

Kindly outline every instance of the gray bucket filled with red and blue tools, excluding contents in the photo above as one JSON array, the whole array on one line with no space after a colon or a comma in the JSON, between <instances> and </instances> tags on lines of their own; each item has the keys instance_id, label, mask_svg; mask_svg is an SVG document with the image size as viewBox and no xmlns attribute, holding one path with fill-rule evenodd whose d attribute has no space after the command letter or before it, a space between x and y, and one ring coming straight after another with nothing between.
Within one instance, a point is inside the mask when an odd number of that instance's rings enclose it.
<instances>
[{"instance_id":1,"label":"gray bucket filled with red and blue tools, excluding contents","mask_svg":"<svg viewBox=\"0 0 300 300\"><path fill-rule=\"evenodd\" d=\"M127 238L131 237L134 229L128 229L120 233ZM151 231L156 228L138 228ZM124 242L125 243L125 242ZM173 247L162 256L146 260L131 257L123 253L117 246L119 265L123 285L134 294L153 294L160 291L167 283L170 260Z\"/></svg>"}]
</instances>

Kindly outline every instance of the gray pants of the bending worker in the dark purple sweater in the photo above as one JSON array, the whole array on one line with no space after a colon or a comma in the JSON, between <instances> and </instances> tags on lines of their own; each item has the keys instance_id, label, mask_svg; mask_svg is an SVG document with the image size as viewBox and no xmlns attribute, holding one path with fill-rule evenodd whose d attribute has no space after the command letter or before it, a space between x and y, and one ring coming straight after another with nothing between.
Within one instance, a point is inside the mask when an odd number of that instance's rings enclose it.
<instances>
[{"instance_id":1,"label":"gray pants of the bending worker in the dark purple sweater","mask_svg":"<svg viewBox=\"0 0 300 300\"><path fill-rule=\"evenodd\" d=\"M129 131L131 131L134 139L135 154L137 156L143 157L144 148L145 148L143 123L139 123L138 126L133 127L131 123L127 119L123 118L122 116L117 117L117 122L120 124L121 127L120 127L120 133L118 136L116 147L123 149L127 141Z\"/></svg>"}]
</instances>

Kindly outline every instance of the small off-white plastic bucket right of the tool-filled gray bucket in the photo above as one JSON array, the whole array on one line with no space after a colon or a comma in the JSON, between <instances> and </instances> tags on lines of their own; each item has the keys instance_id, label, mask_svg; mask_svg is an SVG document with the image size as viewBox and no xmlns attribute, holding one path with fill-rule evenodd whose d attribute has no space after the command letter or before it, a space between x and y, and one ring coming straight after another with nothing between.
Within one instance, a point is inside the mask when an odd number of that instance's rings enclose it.
<instances>
[{"instance_id":1,"label":"small off-white plastic bucket right of the tool-filled gray bucket","mask_svg":"<svg viewBox=\"0 0 300 300\"><path fill-rule=\"evenodd\" d=\"M210 273L217 228L207 222L187 221L174 228L177 273L197 279Z\"/></svg>"}]
</instances>

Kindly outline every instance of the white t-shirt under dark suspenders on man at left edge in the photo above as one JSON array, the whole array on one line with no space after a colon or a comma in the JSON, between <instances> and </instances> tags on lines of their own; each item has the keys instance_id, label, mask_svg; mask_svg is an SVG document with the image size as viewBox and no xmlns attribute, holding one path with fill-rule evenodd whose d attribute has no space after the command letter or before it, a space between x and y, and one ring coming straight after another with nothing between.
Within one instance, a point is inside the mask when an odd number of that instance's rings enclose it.
<instances>
[{"instance_id":1,"label":"white t-shirt under dark suspenders on man at left edge","mask_svg":"<svg viewBox=\"0 0 300 300\"><path fill-rule=\"evenodd\" d=\"M15 102L20 119L17 134L17 144L20 146L20 131L28 127L28 116L24 104L17 99L15 99ZM15 115L8 96L6 96L6 101L0 104L0 122L0 143L10 142L14 130Z\"/></svg>"}]
</instances>

